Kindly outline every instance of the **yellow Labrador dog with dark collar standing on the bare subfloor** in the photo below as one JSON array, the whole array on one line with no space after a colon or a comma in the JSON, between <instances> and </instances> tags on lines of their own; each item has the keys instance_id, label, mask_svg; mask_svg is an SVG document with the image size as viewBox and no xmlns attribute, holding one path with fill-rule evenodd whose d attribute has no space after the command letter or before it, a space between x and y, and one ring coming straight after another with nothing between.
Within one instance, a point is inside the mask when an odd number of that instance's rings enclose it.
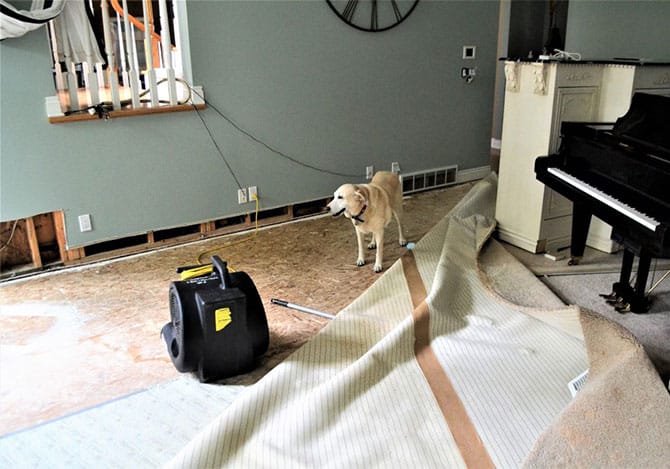
<instances>
[{"instance_id":1,"label":"yellow Labrador dog with dark collar standing on the bare subfloor","mask_svg":"<svg viewBox=\"0 0 670 469\"><path fill-rule=\"evenodd\" d=\"M358 259L356 264L365 264L363 236L372 233L368 249L377 248L375 272L382 271L384 258L384 228L395 217L398 223L398 241L405 246L407 241L402 233L402 189L397 174L380 171L370 184L343 184L333 194L328 211L334 217L344 215L356 228L358 239Z\"/></svg>"}]
</instances>

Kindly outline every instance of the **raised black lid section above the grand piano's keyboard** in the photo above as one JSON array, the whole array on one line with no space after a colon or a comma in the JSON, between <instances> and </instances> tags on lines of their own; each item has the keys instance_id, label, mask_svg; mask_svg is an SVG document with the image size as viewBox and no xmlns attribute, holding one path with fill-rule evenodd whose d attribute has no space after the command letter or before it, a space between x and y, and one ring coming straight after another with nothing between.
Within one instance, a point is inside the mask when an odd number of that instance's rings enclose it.
<instances>
[{"instance_id":1,"label":"raised black lid section above the grand piano's keyboard","mask_svg":"<svg viewBox=\"0 0 670 469\"><path fill-rule=\"evenodd\" d=\"M612 134L670 159L670 97L635 93L628 112L617 119Z\"/></svg>"}]
</instances>

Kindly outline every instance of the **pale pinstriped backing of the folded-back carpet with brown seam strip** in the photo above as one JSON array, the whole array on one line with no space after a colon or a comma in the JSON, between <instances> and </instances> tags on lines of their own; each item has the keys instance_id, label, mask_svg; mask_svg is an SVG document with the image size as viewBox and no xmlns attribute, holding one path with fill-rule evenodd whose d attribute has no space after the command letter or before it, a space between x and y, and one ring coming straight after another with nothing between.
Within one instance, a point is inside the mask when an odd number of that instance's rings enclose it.
<instances>
[{"instance_id":1,"label":"pale pinstriped backing of the folded-back carpet with brown seam strip","mask_svg":"<svg viewBox=\"0 0 670 469\"><path fill-rule=\"evenodd\" d=\"M581 340L479 277L495 193L494 175L478 183L411 262L396 262L171 465L517 467L588 365Z\"/></svg>"}]
</instances>

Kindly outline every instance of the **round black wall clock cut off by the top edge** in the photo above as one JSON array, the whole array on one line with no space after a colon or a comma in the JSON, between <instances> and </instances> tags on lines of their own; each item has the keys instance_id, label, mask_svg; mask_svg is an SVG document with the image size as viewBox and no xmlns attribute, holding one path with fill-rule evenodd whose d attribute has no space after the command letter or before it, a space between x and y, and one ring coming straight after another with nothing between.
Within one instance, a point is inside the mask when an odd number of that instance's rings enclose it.
<instances>
[{"instance_id":1,"label":"round black wall clock cut off by the top edge","mask_svg":"<svg viewBox=\"0 0 670 469\"><path fill-rule=\"evenodd\" d=\"M419 0L326 0L326 3L349 26L378 33L405 21Z\"/></svg>"}]
</instances>

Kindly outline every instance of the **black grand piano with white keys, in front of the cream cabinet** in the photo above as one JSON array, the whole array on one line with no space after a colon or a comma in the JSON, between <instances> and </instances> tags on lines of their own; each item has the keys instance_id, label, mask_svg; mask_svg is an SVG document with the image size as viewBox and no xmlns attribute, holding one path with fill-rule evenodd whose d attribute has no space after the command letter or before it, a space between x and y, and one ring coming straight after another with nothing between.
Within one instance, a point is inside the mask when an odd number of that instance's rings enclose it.
<instances>
[{"instance_id":1,"label":"black grand piano with white keys, in front of the cream cabinet","mask_svg":"<svg viewBox=\"0 0 670 469\"><path fill-rule=\"evenodd\" d=\"M573 202L570 263L584 254L596 215L624 248L619 281L603 296L618 311L644 313L651 259L670 257L670 97L636 93L616 123L564 122L561 137L558 154L535 160L535 174Z\"/></svg>"}]
</instances>

